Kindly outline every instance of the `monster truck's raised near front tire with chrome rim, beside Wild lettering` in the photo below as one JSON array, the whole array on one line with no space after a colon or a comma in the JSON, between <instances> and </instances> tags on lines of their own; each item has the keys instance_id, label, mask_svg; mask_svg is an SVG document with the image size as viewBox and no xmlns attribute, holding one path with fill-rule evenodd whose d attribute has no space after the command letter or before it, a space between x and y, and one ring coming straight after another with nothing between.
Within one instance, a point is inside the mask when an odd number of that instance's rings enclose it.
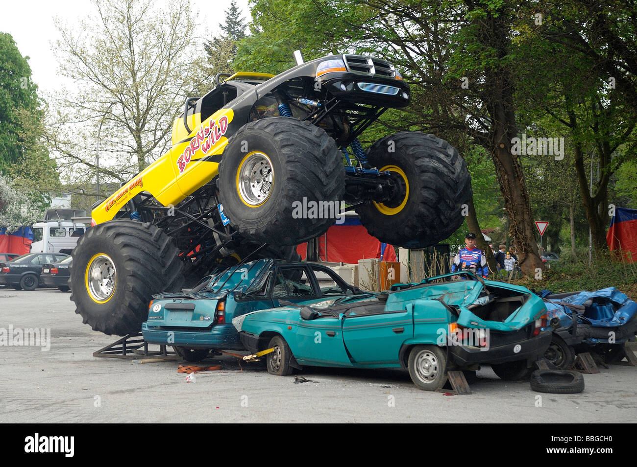
<instances>
[{"instance_id":1,"label":"monster truck's raised near front tire with chrome rim, beside Wild lettering","mask_svg":"<svg viewBox=\"0 0 637 467\"><path fill-rule=\"evenodd\" d=\"M340 202L342 158L334 140L311 123L286 117L250 122L232 137L219 165L224 213L238 232L257 242L285 246L316 237L337 213L326 218L298 208Z\"/></svg>"}]
</instances>

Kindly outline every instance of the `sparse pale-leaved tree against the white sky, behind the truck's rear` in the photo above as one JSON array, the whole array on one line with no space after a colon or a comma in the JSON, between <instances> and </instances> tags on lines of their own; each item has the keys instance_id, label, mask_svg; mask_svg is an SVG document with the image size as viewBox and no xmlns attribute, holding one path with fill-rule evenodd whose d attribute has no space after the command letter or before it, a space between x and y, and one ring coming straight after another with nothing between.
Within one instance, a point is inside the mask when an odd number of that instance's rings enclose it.
<instances>
[{"instance_id":1,"label":"sparse pale-leaved tree against the white sky, behind the truck's rear","mask_svg":"<svg viewBox=\"0 0 637 467\"><path fill-rule=\"evenodd\" d=\"M85 186L98 171L106 182L126 181L164 153L201 73L188 0L165 10L149 0L93 3L97 16L80 22L80 32L57 25L55 53L77 90L57 99L50 123L62 171Z\"/></svg>"}]
</instances>

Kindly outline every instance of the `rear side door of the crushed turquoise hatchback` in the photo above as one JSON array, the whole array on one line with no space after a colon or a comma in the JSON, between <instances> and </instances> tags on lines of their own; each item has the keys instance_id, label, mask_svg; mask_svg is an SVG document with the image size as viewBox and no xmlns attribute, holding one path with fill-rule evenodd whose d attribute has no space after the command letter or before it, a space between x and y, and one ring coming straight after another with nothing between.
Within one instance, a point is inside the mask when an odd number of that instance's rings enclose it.
<instances>
[{"instance_id":1,"label":"rear side door of the crushed turquoise hatchback","mask_svg":"<svg viewBox=\"0 0 637 467\"><path fill-rule=\"evenodd\" d=\"M368 305L353 307L343 319L345 347L359 365L394 366L401 345L411 337L411 307L385 310L384 302L375 298Z\"/></svg>"}]
</instances>

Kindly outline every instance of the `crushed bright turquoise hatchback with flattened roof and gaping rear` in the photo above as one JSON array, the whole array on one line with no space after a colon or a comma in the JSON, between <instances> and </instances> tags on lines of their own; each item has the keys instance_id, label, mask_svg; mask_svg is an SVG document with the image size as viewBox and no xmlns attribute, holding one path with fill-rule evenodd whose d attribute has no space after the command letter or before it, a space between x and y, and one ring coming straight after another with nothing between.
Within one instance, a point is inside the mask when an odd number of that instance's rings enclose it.
<instances>
[{"instance_id":1,"label":"crushed bright turquoise hatchback with flattened roof and gaping rear","mask_svg":"<svg viewBox=\"0 0 637 467\"><path fill-rule=\"evenodd\" d=\"M460 274L475 280L453 281ZM434 391L450 369L490 364L502 379L521 379L551 339L541 298L524 287L470 272L395 284L380 294L326 297L233 319L249 351L273 348L268 372L303 365L403 368Z\"/></svg>"}]
</instances>

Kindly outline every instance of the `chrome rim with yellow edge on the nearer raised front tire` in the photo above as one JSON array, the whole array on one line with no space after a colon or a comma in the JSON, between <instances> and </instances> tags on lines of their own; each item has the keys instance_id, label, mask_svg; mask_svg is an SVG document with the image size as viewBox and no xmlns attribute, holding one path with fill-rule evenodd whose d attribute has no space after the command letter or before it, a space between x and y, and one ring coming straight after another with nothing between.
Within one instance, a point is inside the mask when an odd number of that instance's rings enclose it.
<instances>
[{"instance_id":1,"label":"chrome rim with yellow edge on the nearer raised front tire","mask_svg":"<svg viewBox=\"0 0 637 467\"><path fill-rule=\"evenodd\" d=\"M249 206L259 206L270 195L274 172L272 162L264 153L249 155L239 168L239 193Z\"/></svg>"}]
</instances>

